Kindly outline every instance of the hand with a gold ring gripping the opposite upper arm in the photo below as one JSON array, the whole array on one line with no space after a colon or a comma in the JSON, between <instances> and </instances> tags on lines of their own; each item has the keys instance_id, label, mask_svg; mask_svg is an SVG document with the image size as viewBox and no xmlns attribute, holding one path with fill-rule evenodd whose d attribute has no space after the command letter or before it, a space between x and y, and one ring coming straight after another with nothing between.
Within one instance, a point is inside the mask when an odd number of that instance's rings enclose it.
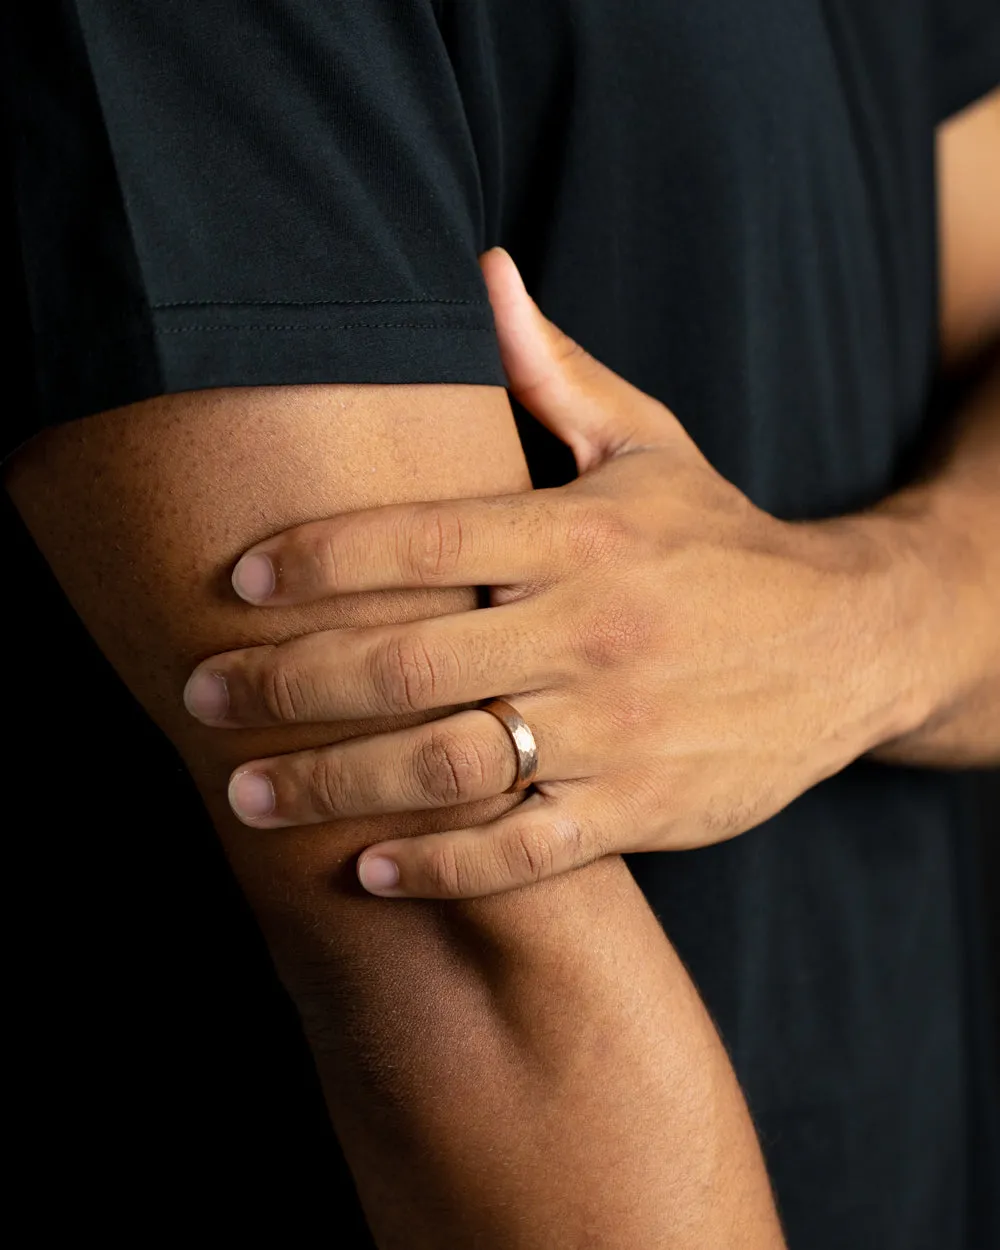
<instances>
[{"instance_id":1,"label":"hand with a gold ring gripping the opposite upper arm","mask_svg":"<svg viewBox=\"0 0 1000 1250\"><path fill-rule=\"evenodd\" d=\"M359 872L384 895L475 896L609 852L732 838L890 736L898 715L879 649L885 554L862 521L762 512L662 404L541 315L506 252L484 272L510 390L580 476L301 525L248 552L234 586L301 604L484 585L491 606L231 651L185 692L220 726L515 705L539 746L534 790L491 824L370 848ZM276 829L468 802L514 771L502 725L466 708L254 760L230 800Z\"/></svg>"}]
</instances>

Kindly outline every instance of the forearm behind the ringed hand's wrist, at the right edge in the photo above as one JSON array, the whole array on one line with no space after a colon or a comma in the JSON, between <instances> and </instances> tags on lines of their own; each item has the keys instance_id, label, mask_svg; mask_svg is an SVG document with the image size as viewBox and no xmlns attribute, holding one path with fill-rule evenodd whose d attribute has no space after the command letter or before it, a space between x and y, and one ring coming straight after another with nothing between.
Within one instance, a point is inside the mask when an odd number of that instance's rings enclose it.
<instances>
[{"instance_id":1,"label":"forearm behind the ringed hand's wrist, at the right edge","mask_svg":"<svg viewBox=\"0 0 1000 1250\"><path fill-rule=\"evenodd\" d=\"M941 768L1000 762L1000 352L921 481L851 519L892 599L879 639L901 732L874 756Z\"/></svg>"}]
</instances>

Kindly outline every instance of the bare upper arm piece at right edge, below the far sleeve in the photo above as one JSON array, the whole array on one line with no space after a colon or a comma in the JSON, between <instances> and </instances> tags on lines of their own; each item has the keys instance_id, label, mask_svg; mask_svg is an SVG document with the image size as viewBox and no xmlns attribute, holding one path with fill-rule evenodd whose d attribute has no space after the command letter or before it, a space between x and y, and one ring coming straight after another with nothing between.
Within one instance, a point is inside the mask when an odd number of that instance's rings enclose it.
<instances>
[{"instance_id":1,"label":"bare upper arm piece at right edge, below the far sleeve","mask_svg":"<svg viewBox=\"0 0 1000 1250\"><path fill-rule=\"evenodd\" d=\"M1000 335L1000 89L938 131L941 349L955 364Z\"/></svg>"}]
</instances>

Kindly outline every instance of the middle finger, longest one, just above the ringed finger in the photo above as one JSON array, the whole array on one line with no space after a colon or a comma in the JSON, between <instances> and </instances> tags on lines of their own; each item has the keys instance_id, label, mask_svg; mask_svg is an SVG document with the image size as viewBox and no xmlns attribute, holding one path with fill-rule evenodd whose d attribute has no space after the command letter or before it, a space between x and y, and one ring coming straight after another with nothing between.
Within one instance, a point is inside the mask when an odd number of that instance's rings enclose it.
<instances>
[{"instance_id":1,"label":"middle finger, longest one, just above the ringed finger","mask_svg":"<svg viewBox=\"0 0 1000 1250\"><path fill-rule=\"evenodd\" d=\"M184 701L219 728L409 715L544 688L564 675L559 645L522 600L228 651L195 669Z\"/></svg>"}]
</instances>

